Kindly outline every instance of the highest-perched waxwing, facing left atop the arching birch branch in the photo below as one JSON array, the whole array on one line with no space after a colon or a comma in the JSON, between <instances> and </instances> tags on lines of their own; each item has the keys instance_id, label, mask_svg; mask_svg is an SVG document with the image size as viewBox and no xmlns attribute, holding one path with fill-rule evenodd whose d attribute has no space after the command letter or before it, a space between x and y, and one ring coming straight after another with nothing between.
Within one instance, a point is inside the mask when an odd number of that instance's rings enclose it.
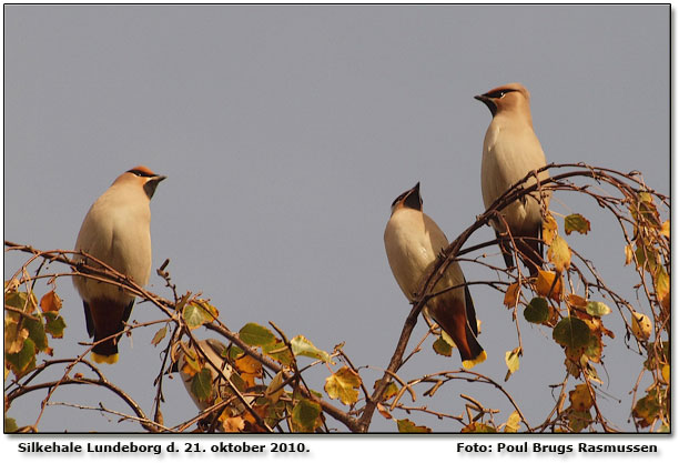
<instances>
[{"instance_id":1,"label":"highest-perched waxwing, facing left atop the arching birch branch","mask_svg":"<svg viewBox=\"0 0 679 463\"><path fill-rule=\"evenodd\" d=\"M474 98L483 101L493 113L493 121L484 139L482 158L482 194L484 205L488 209L513 184L530 171L545 167L547 161L533 131L530 93L524 85L508 83ZM540 181L548 177L549 172L546 170L538 173ZM535 183L535 178L531 177L524 185L530 187ZM546 210L550 195L551 192L546 190L534 192L503 210L517 251L531 275L537 273L543 262L543 207L539 199L541 198ZM505 224L501 221L493 221L493 228L498 239L505 233ZM513 266L511 244L507 241L500 242L500 250L505 264Z\"/></svg>"}]
</instances>

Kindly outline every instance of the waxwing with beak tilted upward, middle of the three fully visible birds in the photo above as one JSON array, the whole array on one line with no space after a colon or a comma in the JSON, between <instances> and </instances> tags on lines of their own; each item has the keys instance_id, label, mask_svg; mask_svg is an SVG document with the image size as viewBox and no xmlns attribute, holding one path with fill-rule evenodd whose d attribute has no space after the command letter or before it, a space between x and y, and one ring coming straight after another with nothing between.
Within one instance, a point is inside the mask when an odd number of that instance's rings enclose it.
<instances>
[{"instance_id":1,"label":"waxwing with beak tilted upward, middle of the three fully visible birds","mask_svg":"<svg viewBox=\"0 0 679 463\"><path fill-rule=\"evenodd\" d=\"M384 245L396 282L413 302L425 273L448 245L444 232L422 211L419 183L392 203L392 217L384 231ZM464 286L436 295L424 310L453 339L459 350L463 366L470 369L486 360L486 352L476 340L476 313L465 283L459 264L450 263L434 291Z\"/></svg>"}]
</instances>

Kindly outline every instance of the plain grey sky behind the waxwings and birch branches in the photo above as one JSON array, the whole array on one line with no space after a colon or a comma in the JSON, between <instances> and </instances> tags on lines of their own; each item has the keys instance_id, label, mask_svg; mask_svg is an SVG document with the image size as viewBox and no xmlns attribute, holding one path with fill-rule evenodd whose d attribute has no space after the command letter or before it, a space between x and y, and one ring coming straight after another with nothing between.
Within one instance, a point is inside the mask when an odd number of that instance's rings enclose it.
<instances>
[{"instance_id":1,"label":"plain grey sky behind the waxwings and birch branches","mask_svg":"<svg viewBox=\"0 0 679 463\"><path fill-rule=\"evenodd\" d=\"M97 197L145 164L168 175L151 205L153 269L169 258L179 290L203 292L232 330L272 320L328 351L346 341L356 365L385 368L409 310L382 241L389 204L420 181L425 212L448 239L473 223L490 121L473 97L511 81L531 92L548 161L640 170L669 194L667 6L6 6L4 236L71 249ZM557 195L554 209L591 220L590 235L571 235L570 245L636 301L615 223L572 195ZM491 236L486 228L469 244ZM26 258L6 255L6 278ZM489 278L463 269L469 281ZM169 296L155 272L149 289ZM472 291L488 352L475 370L501 382L504 353L517 346L510 312L500 294ZM63 358L82 351L87 333L71 282L60 280L58 292L69 324L54 342ZM159 316L150 304L132 313ZM625 348L618 312L608 316L619 335L598 368L611 394L600 405L629 431L640 358ZM103 368L148 412L155 330L136 330L120 363ZM521 320L521 368L503 384L537 424L553 406L547 384L564 378L563 353L548 331ZM438 356L430 343L402 378L460 368L456 352ZM362 371L369 386L378 373ZM312 386L322 390L326 374L318 368ZM166 424L196 413L179 378L165 393ZM496 391L462 382L426 403L458 414L460 393L503 410L497 423L510 412ZM28 424L42 397L8 414ZM53 400L126 411L94 389L64 387ZM40 429L140 430L64 406L49 407ZM396 426L375 415L372 430Z\"/></svg>"}]
</instances>

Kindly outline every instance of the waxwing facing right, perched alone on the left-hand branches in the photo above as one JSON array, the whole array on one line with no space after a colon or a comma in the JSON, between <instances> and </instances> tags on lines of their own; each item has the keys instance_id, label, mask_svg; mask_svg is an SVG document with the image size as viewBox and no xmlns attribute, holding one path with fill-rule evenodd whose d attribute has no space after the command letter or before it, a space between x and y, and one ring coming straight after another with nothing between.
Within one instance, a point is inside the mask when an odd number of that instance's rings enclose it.
<instances>
[{"instance_id":1,"label":"waxwing facing right, perched alone on the left-hand branches","mask_svg":"<svg viewBox=\"0 0 679 463\"><path fill-rule=\"evenodd\" d=\"M149 202L164 175L140 165L120 175L92 204L82 222L75 251L85 252L145 285L151 273L151 210ZM97 266L85 260L88 265ZM121 288L74 276L82 298L88 333L99 342L92 359L99 363L118 361L118 340L130 318L134 296ZM118 334L116 334L118 333Z\"/></svg>"}]
</instances>

